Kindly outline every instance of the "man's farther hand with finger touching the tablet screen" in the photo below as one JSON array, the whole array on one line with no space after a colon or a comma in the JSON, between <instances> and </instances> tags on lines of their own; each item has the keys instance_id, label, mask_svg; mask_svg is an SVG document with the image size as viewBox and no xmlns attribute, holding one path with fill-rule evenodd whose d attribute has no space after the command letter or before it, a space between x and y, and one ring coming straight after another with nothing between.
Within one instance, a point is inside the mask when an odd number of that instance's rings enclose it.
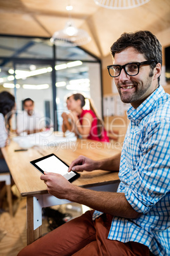
<instances>
[{"instance_id":1,"label":"man's farther hand with finger touching the tablet screen","mask_svg":"<svg viewBox=\"0 0 170 256\"><path fill-rule=\"evenodd\" d=\"M97 162L80 155L77 159L73 160L69 167L69 172L72 171L93 171L96 169Z\"/></svg>"}]
</instances>

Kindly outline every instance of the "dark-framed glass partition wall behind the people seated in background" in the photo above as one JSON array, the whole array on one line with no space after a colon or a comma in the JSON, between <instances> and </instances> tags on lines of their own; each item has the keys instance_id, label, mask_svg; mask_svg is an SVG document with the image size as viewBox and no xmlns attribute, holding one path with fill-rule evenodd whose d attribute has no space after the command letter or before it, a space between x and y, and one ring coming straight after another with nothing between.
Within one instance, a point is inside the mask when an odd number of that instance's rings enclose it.
<instances>
[{"instance_id":1,"label":"dark-framed glass partition wall behind the people seated in background","mask_svg":"<svg viewBox=\"0 0 170 256\"><path fill-rule=\"evenodd\" d=\"M16 108L30 97L46 117L46 128L62 129L66 99L91 97L102 117L101 63L79 47L54 46L49 39L0 36L0 92L15 95Z\"/></svg>"}]
</instances>

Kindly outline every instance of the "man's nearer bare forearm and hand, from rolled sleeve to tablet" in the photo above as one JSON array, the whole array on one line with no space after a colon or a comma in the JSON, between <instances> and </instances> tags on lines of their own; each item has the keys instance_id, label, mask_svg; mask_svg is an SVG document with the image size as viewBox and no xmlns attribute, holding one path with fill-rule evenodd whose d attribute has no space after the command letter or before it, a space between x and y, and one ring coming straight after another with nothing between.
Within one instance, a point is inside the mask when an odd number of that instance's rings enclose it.
<instances>
[{"instance_id":1,"label":"man's nearer bare forearm and hand, from rolled sleeve to tablet","mask_svg":"<svg viewBox=\"0 0 170 256\"><path fill-rule=\"evenodd\" d=\"M88 159L90 160L90 159ZM47 185L49 194L69 201L84 204L95 210L123 218L138 218L141 213L128 203L124 193L101 192L73 185L62 175L45 173L41 180Z\"/></svg>"}]
</instances>

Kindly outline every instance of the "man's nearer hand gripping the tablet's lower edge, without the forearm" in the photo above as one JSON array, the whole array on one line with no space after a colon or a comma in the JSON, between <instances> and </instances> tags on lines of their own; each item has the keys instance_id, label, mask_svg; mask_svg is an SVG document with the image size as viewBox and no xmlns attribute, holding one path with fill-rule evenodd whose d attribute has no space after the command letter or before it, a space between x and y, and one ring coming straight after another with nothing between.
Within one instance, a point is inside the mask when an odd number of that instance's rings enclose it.
<instances>
[{"instance_id":1,"label":"man's nearer hand gripping the tablet's lower edge, without the forearm","mask_svg":"<svg viewBox=\"0 0 170 256\"><path fill-rule=\"evenodd\" d=\"M44 180L48 193L60 199L68 199L69 193L75 187L61 174L44 172L40 178Z\"/></svg>"}]
</instances>

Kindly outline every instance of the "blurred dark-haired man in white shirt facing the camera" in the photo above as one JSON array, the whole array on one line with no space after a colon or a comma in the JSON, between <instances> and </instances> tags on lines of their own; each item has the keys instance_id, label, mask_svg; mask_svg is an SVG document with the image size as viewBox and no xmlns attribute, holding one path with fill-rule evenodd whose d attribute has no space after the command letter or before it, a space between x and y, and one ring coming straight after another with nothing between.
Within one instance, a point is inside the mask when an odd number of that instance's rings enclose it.
<instances>
[{"instance_id":1,"label":"blurred dark-haired man in white shirt facing the camera","mask_svg":"<svg viewBox=\"0 0 170 256\"><path fill-rule=\"evenodd\" d=\"M21 134L27 132L27 134L43 131L44 117L41 112L34 110L34 101L27 98L23 101L22 113L18 111L17 115L17 129L16 132Z\"/></svg>"}]
</instances>

